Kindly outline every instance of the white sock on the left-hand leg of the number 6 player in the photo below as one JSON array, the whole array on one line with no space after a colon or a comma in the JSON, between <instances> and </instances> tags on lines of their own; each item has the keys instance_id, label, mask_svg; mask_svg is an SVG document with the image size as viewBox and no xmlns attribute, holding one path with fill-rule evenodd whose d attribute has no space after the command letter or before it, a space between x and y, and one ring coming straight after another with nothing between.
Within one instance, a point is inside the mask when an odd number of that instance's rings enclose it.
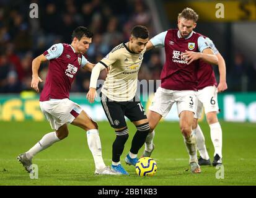
<instances>
[{"instance_id":1,"label":"white sock on the left-hand leg of the number 6 player","mask_svg":"<svg viewBox=\"0 0 256 198\"><path fill-rule=\"evenodd\" d=\"M210 157L205 146L205 136L203 136L203 132L201 131L199 124L197 124L197 127L193 130L193 132L195 133L196 136L196 144L200 156L203 159L208 160Z\"/></svg>"}]
</instances>

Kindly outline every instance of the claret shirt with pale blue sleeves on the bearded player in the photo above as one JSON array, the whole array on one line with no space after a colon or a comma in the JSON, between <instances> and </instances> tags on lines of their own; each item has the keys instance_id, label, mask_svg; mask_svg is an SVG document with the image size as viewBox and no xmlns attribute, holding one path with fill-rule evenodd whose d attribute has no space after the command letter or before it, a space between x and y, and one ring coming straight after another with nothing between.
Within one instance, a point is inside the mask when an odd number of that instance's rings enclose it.
<instances>
[{"instance_id":1,"label":"claret shirt with pale blue sleeves on the bearded player","mask_svg":"<svg viewBox=\"0 0 256 198\"><path fill-rule=\"evenodd\" d=\"M205 38L192 32L187 38L180 37L179 30L170 29L151 38L155 47L164 47L166 62L161 72L161 87L169 90L196 90L199 60L187 64L181 58L185 51L202 52L210 48Z\"/></svg>"}]
</instances>

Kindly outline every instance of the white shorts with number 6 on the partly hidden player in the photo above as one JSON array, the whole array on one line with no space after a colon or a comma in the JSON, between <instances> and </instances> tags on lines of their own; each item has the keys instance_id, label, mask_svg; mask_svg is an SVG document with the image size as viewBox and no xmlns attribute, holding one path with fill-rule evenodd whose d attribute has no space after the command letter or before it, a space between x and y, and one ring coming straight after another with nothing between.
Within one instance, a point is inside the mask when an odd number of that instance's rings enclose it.
<instances>
[{"instance_id":1,"label":"white shorts with number 6 on the partly hidden player","mask_svg":"<svg viewBox=\"0 0 256 198\"><path fill-rule=\"evenodd\" d=\"M208 86L198 90L197 100L198 105L194 118L201 118L203 108L205 108L205 113L214 111L219 112L217 88L215 86Z\"/></svg>"}]
</instances>

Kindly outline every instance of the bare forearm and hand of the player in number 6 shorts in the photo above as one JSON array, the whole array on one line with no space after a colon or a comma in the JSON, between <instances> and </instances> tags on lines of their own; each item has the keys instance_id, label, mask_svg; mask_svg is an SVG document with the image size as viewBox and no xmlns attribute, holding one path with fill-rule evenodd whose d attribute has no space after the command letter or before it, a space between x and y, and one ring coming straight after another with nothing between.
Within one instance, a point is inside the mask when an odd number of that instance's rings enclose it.
<instances>
[{"instance_id":1,"label":"bare forearm and hand of the player in number 6 shorts","mask_svg":"<svg viewBox=\"0 0 256 198\"><path fill-rule=\"evenodd\" d=\"M218 57L219 60L219 84L218 84L218 92L224 92L224 90L227 89L227 82L226 82L226 63L225 60L223 58L223 56L221 56L220 53L216 54L216 56Z\"/></svg>"}]
</instances>

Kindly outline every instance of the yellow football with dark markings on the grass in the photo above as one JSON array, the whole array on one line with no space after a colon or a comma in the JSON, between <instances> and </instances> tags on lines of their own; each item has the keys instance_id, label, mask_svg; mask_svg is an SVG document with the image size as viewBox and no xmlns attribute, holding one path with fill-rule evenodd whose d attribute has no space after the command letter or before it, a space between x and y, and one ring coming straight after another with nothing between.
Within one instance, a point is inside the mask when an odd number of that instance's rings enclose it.
<instances>
[{"instance_id":1,"label":"yellow football with dark markings on the grass","mask_svg":"<svg viewBox=\"0 0 256 198\"><path fill-rule=\"evenodd\" d=\"M136 173L139 176L154 176L157 170L156 161L150 157L140 158L135 165Z\"/></svg>"}]
</instances>

